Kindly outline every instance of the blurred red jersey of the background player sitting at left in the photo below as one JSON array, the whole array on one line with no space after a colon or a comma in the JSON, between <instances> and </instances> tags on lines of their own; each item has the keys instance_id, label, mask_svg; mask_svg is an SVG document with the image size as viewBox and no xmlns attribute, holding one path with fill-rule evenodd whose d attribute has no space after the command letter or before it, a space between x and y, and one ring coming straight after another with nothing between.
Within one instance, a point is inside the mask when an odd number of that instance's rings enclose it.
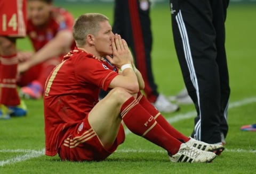
<instances>
[{"instance_id":1,"label":"blurred red jersey of the background player sitting at left","mask_svg":"<svg viewBox=\"0 0 256 174\"><path fill-rule=\"evenodd\" d=\"M27 34L31 40L35 51L41 49L51 39L53 39L60 30L70 30L74 23L73 15L64 8L53 8L49 22L44 27L35 26L31 20L28 20ZM70 49L74 49L75 41Z\"/></svg>"}]
</instances>

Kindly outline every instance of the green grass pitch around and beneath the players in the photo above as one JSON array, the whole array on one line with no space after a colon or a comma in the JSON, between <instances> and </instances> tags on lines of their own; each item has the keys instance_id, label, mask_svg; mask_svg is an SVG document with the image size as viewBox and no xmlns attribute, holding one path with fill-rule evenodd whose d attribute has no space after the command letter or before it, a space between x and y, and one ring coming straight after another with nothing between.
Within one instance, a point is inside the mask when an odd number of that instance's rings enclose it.
<instances>
[{"instance_id":1,"label":"green grass pitch around and beneath the players","mask_svg":"<svg viewBox=\"0 0 256 174\"><path fill-rule=\"evenodd\" d=\"M65 6L75 17L98 12L113 23L113 4L84 3ZM62 162L58 155L44 155L43 101L26 100L28 115L0 120L0 173L255 173L256 132L242 132L245 124L256 123L256 22L255 5L230 5L226 21L226 48L230 75L229 133L226 150L212 163L171 163L166 152L143 138L127 132L126 141L102 162ZM152 66L158 91L173 95L183 88L173 45L169 4L151 8L154 35ZM22 50L31 49L27 39ZM194 127L193 105L163 114L183 134Z\"/></svg>"}]
</instances>

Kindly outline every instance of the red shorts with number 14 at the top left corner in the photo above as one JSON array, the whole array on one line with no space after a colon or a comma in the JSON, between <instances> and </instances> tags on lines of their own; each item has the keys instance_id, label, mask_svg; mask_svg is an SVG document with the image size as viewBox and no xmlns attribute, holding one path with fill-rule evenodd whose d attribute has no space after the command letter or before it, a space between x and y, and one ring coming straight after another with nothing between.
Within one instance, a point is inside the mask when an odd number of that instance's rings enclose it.
<instances>
[{"instance_id":1,"label":"red shorts with number 14 at the top left corner","mask_svg":"<svg viewBox=\"0 0 256 174\"><path fill-rule=\"evenodd\" d=\"M26 36L26 0L0 1L0 36Z\"/></svg>"}]
</instances>

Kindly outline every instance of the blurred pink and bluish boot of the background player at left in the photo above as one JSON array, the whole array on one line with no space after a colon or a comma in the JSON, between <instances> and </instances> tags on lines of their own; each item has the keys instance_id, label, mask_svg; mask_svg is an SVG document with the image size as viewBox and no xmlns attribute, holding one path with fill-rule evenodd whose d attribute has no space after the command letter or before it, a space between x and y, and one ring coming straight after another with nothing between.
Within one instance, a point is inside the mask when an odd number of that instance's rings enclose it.
<instances>
[{"instance_id":1,"label":"blurred pink and bluish boot of the background player at left","mask_svg":"<svg viewBox=\"0 0 256 174\"><path fill-rule=\"evenodd\" d=\"M38 81L33 81L20 89L20 97L25 99L41 99L43 87Z\"/></svg>"}]
</instances>

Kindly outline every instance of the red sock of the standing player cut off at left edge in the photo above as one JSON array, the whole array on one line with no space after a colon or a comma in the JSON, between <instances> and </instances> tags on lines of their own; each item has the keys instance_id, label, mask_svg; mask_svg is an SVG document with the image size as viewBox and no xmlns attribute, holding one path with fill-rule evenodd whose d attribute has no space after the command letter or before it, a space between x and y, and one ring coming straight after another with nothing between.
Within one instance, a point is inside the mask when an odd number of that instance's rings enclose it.
<instances>
[{"instance_id":1,"label":"red sock of the standing player cut off at left edge","mask_svg":"<svg viewBox=\"0 0 256 174\"><path fill-rule=\"evenodd\" d=\"M1 100L6 106L20 105L17 91L17 66L18 59L15 55L2 56L0 64Z\"/></svg>"}]
</instances>

